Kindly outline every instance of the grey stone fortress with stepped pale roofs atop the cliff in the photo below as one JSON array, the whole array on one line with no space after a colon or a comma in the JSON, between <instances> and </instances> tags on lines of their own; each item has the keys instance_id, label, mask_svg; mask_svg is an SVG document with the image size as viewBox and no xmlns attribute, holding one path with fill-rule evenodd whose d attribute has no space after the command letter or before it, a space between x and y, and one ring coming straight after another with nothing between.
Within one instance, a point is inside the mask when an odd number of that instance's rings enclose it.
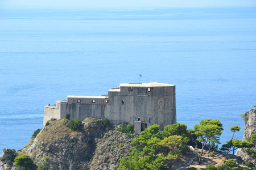
<instances>
[{"instance_id":1,"label":"grey stone fortress with stepped pale roofs atop the cliff","mask_svg":"<svg viewBox=\"0 0 256 170\"><path fill-rule=\"evenodd\" d=\"M51 118L84 120L86 117L108 118L113 124L128 122L135 132L141 133L150 125L160 129L176 123L175 85L150 83L121 83L111 88L108 95L68 96L67 100L56 101L44 107L44 122Z\"/></svg>"}]
</instances>

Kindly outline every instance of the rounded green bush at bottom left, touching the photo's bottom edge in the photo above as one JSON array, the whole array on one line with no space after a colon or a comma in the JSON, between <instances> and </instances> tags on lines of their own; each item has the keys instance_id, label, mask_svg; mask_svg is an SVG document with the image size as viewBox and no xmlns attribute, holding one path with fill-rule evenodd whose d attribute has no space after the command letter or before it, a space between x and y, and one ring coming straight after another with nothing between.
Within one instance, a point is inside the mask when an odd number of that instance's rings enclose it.
<instances>
[{"instance_id":1,"label":"rounded green bush at bottom left, touching the photo's bottom edge","mask_svg":"<svg viewBox=\"0 0 256 170\"><path fill-rule=\"evenodd\" d=\"M27 154L16 157L14 161L16 170L26 170L28 168L32 168L34 165L34 160L32 160Z\"/></svg>"}]
</instances>

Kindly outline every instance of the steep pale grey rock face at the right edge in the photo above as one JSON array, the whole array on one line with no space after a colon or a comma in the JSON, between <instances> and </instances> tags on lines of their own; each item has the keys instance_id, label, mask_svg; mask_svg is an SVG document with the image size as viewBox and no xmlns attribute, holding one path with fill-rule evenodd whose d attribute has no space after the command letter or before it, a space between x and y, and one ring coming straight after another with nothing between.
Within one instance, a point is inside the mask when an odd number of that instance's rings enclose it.
<instances>
[{"instance_id":1,"label":"steep pale grey rock face at the right edge","mask_svg":"<svg viewBox=\"0 0 256 170\"><path fill-rule=\"evenodd\" d=\"M243 134L243 141L245 142L251 135L256 133L256 109L251 109L249 112L246 112L244 118L245 130ZM256 151L256 146L253 147L252 149ZM244 148L238 149L236 155L241 156L241 158L245 162L251 162L256 164L256 160L251 156L247 155L247 153L244 151Z\"/></svg>"}]
</instances>

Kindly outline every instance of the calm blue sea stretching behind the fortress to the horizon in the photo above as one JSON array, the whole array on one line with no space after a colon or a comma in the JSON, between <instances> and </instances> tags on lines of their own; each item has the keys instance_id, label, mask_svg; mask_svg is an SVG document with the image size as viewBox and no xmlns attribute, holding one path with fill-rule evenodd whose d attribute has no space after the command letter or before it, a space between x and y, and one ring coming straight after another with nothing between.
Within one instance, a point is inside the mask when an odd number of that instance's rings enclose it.
<instances>
[{"instance_id":1,"label":"calm blue sea stretching behind the fortress to the horizon","mask_svg":"<svg viewBox=\"0 0 256 170\"><path fill-rule=\"evenodd\" d=\"M43 126L47 104L120 83L176 85L177 122L242 139L256 105L256 7L0 8L0 152ZM221 146L221 145L219 145Z\"/></svg>"}]
</instances>

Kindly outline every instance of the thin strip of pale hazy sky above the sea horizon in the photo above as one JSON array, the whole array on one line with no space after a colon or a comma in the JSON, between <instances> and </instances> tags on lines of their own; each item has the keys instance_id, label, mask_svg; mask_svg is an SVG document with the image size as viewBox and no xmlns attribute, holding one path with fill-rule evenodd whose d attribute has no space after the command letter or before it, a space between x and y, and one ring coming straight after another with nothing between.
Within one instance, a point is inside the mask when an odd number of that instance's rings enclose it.
<instances>
[{"instance_id":1,"label":"thin strip of pale hazy sky above the sea horizon","mask_svg":"<svg viewBox=\"0 0 256 170\"><path fill-rule=\"evenodd\" d=\"M0 6L42 7L212 7L256 6L256 0L0 0Z\"/></svg>"}]
</instances>

